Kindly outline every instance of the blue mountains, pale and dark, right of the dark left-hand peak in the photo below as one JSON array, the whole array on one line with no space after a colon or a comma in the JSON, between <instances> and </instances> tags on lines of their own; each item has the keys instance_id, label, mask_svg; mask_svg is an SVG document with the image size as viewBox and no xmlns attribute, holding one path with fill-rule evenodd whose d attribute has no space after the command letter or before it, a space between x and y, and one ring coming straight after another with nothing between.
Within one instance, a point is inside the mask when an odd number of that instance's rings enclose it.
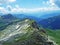
<instances>
[{"instance_id":1,"label":"blue mountains, pale and dark, right of the dark left-hand peak","mask_svg":"<svg viewBox=\"0 0 60 45\"><path fill-rule=\"evenodd\" d=\"M38 17L37 17L38 15ZM44 13L40 16L40 13L36 14L17 14L14 15L17 18L29 18L35 20L44 28L60 29L60 13L59 11Z\"/></svg>"}]
</instances>

